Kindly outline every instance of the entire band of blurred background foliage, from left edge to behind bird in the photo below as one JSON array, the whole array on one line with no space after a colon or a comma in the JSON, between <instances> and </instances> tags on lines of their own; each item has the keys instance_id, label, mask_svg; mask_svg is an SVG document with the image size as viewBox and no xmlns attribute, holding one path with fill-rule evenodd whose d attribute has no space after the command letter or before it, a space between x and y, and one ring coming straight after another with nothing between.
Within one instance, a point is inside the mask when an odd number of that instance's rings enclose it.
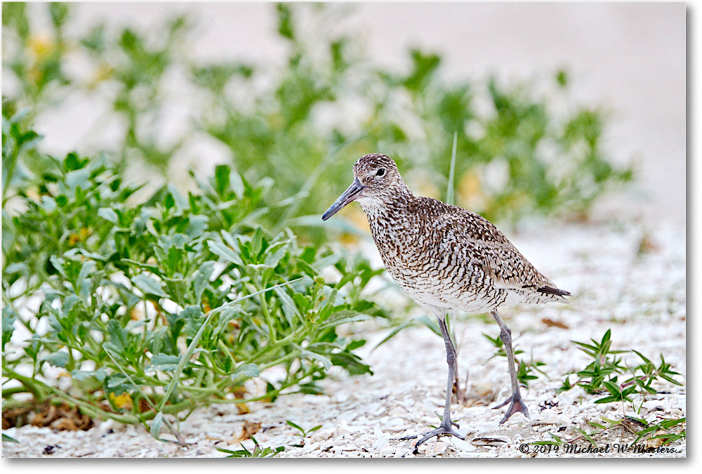
<instances>
[{"instance_id":1,"label":"entire band of blurred background foliage, from left edge to behind bird","mask_svg":"<svg viewBox=\"0 0 702 474\"><path fill-rule=\"evenodd\" d=\"M430 51L409 51L409 72L398 73L371 65L359 38L329 32L326 25L342 14L337 8L293 4L272 6L272 34L286 45L285 67L203 63L187 54L192 23L184 18L148 33L96 25L75 37L70 7L47 8L53 29L43 37L30 26L25 4L3 5L4 43L11 45L4 64L21 85L13 100L39 112L67 96L55 91L107 98L126 124L114 157L139 159L161 173L195 136L215 138L250 182L275 178L273 202L303 190L293 208L271 209L262 220L268 225L323 211L347 186L350 164L366 152L390 154L410 184L424 188L418 191L443 197L432 190L446 186L454 136L456 202L491 219L586 216L597 197L632 177L632 169L614 166L602 152L604 112L569 100L567 70L552 74L546 97L529 81L446 82L441 56ZM300 26L303 8L313 27ZM84 55L92 68L87 79L67 75L67 51ZM184 79L187 92L180 96L166 85L174 75ZM161 118L186 96L197 97L188 101L193 120L177 137L164 138ZM321 237L309 220L293 222Z\"/></svg>"}]
</instances>

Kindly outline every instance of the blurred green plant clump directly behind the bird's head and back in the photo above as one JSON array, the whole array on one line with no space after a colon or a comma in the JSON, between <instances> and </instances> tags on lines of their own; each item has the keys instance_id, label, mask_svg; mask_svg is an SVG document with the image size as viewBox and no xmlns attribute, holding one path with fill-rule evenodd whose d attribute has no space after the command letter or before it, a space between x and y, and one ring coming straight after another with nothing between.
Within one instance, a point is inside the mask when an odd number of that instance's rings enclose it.
<instances>
[{"instance_id":1,"label":"blurred green plant clump directly behind the bird's head and back","mask_svg":"<svg viewBox=\"0 0 702 474\"><path fill-rule=\"evenodd\" d=\"M279 34L289 44L285 73L276 78L271 93L256 97L254 114L244 112L221 88L211 89L219 100L211 101L216 108L204 115L204 128L227 143L249 172L279 176L288 170L281 190L300 189L299 183L318 170L317 164L335 146L358 150L353 159L369 150L382 150L397 159L402 173L425 169L423 180L436 189L452 178L447 171L455 170L461 183L458 204L488 218L558 209L586 214L610 185L632 176L631 169L616 169L602 156L604 113L600 110L574 107L569 116L559 117L547 100L534 96L529 84L505 86L496 78L446 84L438 74L442 58L425 51L410 51L412 66L406 75L377 70L355 53L353 38L319 38L324 27L314 28L317 36L310 37L296 25L296 8L281 4L277 13ZM333 18L333 12L318 15L320 25ZM329 45L328 56L312 60L312 52L319 52L313 44ZM256 77L253 70L244 83ZM564 96L567 74L559 71L558 77L553 93ZM474 105L478 96L494 110L479 112ZM340 103L345 100L366 103L372 112L355 127L330 124L326 133L319 133L315 109L333 107L343 117ZM420 130L408 126L413 120ZM272 159L253 169L263 148L271 146ZM554 150L555 157L545 156L545 149ZM455 166L449 166L456 156ZM289 157L296 157L298 164L293 172ZM503 185L487 182L484 173L489 167L504 168ZM314 198L306 197L305 207L322 211L323 203L333 200L333 190L345 187L347 180L347 167L325 166L310 190ZM310 225L308 220L302 222Z\"/></svg>"}]
</instances>

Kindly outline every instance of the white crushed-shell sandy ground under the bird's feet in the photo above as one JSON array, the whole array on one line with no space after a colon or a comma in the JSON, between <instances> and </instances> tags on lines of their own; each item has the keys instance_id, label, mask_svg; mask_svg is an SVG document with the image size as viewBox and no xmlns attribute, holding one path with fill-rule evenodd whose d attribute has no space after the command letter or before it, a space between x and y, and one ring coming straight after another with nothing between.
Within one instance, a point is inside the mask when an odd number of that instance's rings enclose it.
<instances>
[{"instance_id":1,"label":"white crushed-shell sandy ground under the bird's feet","mask_svg":"<svg viewBox=\"0 0 702 474\"><path fill-rule=\"evenodd\" d=\"M508 370L503 357L490 357L493 349L482 335L497 336L497 326L458 315L454 323L458 370L461 381L468 378L468 396L465 402L453 404L452 415L461 424L459 433L466 440L442 437L420 447L418 456L685 456L684 440L670 446L671 452L654 454L630 450L622 454L567 453L564 447L534 452L548 447L522 447L550 440L548 432L573 440L580 435L575 428L588 433L595 430L588 422L602 423L603 417L621 419L623 414L635 414L630 404L595 404L598 396L587 395L581 388L555 392L564 374L588 364L588 357L571 341L599 339L609 328L615 349L636 349L654 361L663 353L665 360L683 374L677 378L684 383L684 228L622 223L560 228L534 225L520 230L513 240L559 287L575 295L569 305L501 310L512 328L516 347L524 350L524 355L545 362L543 370L548 376L539 376L524 391L531 420L517 414L498 426L503 409L491 407L509 395ZM545 324L547 319L567 329ZM371 352L388 329L362 325L348 329L369 341L359 352L370 362L373 376L350 377L332 371L322 383L326 395L289 395L279 397L275 404L252 403L249 414L237 414L229 404L199 409L180 423L180 433L190 443L185 449L157 442L141 426L107 421L77 432L33 426L7 430L20 443L3 443L3 456L225 456L216 448L241 449L236 438L247 421L260 423L255 437L261 446L285 447L279 457L414 456L413 440L399 438L422 433L437 424L446 376L442 340L426 327L411 327ZM625 361L638 363L636 356L625 356ZM638 416L647 421L685 416L685 386L664 382L656 389L659 393L646 397ZM301 438L286 424L288 420L305 429L317 425L322 428L308 435L303 447L293 447ZM616 444L628 445L633 435L614 428L596 440L600 447L609 444L612 449ZM251 449L253 442L246 440L244 445ZM586 449L588 442L579 440L573 445L569 449ZM44 454L49 446L53 447L52 454Z\"/></svg>"}]
</instances>

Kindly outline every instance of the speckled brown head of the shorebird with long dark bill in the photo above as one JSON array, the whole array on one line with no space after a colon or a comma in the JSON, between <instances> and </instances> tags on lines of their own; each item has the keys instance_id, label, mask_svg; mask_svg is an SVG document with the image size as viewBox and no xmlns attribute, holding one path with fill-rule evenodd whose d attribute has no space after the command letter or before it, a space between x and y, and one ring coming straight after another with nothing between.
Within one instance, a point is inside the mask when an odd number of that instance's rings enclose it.
<instances>
[{"instance_id":1,"label":"speckled brown head of the shorebird with long dark bill","mask_svg":"<svg viewBox=\"0 0 702 474\"><path fill-rule=\"evenodd\" d=\"M322 220L329 219L352 201L377 205L409 193L402 176L399 176L397 164L385 154L371 153L361 157L353 165L353 177L353 183L326 210Z\"/></svg>"}]
</instances>

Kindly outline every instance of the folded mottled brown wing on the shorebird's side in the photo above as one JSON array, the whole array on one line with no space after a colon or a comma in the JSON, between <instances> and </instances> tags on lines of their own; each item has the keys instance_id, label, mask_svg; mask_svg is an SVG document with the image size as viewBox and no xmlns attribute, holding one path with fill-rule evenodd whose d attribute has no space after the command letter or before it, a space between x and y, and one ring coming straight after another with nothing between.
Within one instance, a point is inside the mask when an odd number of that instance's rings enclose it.
<instances>
[{"instance_id":1,"label":"folded mottled brown wing on the shorebird's side","mask_svg":"<svg viewBox=\"0 0 702 474\"><path fill-rule=\"evenodd\" d=\"M555 285L531 265L489 220L470 211L446 212L436 220L446 251L460 251L500 289L541 291Z\"/></svg>"}]
</instances>

